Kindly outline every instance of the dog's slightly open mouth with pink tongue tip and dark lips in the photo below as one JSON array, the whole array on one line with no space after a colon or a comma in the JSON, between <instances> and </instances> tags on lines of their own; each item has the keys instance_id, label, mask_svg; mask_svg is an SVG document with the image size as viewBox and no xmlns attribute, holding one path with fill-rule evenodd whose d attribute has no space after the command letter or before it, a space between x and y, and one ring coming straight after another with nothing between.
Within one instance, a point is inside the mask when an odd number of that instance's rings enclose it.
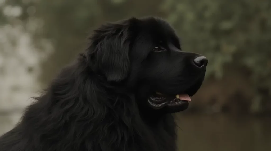
<instances>
[{"instance_id":1,"label":"dog's slightly open mouth with pink tongue tip and dark lips","mask_svg":"<svg viewBox=\"0 0 271 151\"><path fill-rule=\"evenodd\" d=\"M159 92L154 93L149 97L148 102L154 109L162 109L163 107L181 107L191 101L188 94L176 94L175 96L169 96Z\"/></svg>"}]
</instances>

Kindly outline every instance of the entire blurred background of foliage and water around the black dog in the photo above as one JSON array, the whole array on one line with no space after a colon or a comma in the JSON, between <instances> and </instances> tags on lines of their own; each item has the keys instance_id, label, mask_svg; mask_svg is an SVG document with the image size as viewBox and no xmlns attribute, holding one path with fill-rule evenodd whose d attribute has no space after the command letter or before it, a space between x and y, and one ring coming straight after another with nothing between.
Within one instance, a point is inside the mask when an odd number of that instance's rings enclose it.
<instances>
[{"instance_id":1,"label":"entire blurred background of foliage and water around the black dog","mask_svg":"<svg viewBox=\"0 0 271 151\"><path fill-rule=\"evenodd\" d=\"M178 113L185 151L271 150L270 0L0 0L0 135L107 21L158 16L206 79Z\"/></svg>"}]
</instances>

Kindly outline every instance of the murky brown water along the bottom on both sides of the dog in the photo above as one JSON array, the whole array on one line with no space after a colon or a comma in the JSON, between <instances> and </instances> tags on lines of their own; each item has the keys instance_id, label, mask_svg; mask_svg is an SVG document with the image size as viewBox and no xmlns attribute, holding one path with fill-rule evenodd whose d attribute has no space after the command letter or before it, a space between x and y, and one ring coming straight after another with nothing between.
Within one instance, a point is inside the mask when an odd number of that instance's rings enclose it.
<instances>
[{"instance_id":1,"label":"murky brown water along the bottom on both sides of the dog","mask_svg":"<svg viewBox=\"0 0 271 151\"><path fill-rule=\"evenodd\" d=\"M0 134L20 114L0 116ZM270 151L271 118L225 115L178 115L180 151Z\"/></svg>"}]
</instances>

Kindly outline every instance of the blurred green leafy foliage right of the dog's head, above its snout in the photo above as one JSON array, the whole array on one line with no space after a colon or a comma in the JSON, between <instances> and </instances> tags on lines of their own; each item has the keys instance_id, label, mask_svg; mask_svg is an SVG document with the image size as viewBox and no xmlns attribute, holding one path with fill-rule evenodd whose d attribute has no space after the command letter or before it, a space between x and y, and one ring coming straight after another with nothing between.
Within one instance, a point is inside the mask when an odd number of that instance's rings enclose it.
<instances>
[{"instance_id":1,"label":"blurred green leafy foliage right of the dog's head, above its snout","mask_svg":"<svg viewBox=\"0 0 271 151\"><path fill-rule=\"evenodd\" d=\"M207 76L222 78L226 64L246 68L256 92L251 111L271 101L270 0L167 0L162 6L184 37L184 50L207 56Z\"/></svg>"}]
</instances>

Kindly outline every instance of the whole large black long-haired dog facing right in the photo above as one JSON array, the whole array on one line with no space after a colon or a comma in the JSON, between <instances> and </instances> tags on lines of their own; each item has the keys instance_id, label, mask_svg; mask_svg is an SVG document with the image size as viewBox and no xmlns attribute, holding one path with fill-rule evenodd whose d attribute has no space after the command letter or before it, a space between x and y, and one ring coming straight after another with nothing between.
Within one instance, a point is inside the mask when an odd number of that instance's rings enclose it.
<instances>
[{"instance_id":1,"label":"whole large black long-haired dog facing right","mask_svg":"<svg viewBox=\"0 0 271 151\"><path fill-rule=\"evenodd\" d=\"M159 18L102 25L21 121L1 151L175 151L172 114L185 110L207 59L183 52Z\"/></svg>"}]
</instances>

